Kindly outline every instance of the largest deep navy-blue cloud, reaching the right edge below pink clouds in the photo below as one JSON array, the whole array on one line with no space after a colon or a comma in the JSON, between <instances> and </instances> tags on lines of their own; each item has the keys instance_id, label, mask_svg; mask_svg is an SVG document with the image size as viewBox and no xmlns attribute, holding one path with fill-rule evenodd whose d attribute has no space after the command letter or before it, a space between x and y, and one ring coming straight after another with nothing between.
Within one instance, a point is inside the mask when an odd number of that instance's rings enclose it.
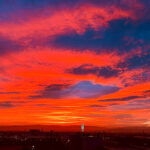
<instances>
[{"instance_id":1,"label":"largest deep navy-blue cloud, reaching the right edge below pink clouds","mask_svg":"<svg viewBox=\"0 0 150 150\"><path fill-rule=\"evenodd\" d=\"M59 35L53 44L56 47L65 47L72 50L91 50L101 52L117 50L124 53L133 48L143 47L150 43L150 21L133 22L130 19L118 19L109 22L107 28L98 31L88 28L82 35L77 33Z\"/></svg>"}]
</instances>

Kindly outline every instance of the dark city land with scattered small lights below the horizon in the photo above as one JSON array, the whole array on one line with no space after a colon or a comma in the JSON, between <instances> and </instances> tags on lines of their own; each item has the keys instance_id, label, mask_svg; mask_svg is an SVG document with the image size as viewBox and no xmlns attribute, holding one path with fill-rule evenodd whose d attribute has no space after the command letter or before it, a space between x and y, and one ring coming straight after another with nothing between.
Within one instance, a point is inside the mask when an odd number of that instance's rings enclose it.
<instances>
[{"instance_id":1,"label":"dark city land with scattered small lights below the horizon","mask_svg":"<svg viewBox=\"0 0 150 150\"><path fill-rule=\"evenodd\" d=\"M150 150L150 136L39 130L1 132L0 150Z\"/></svg>"}]
</instances>

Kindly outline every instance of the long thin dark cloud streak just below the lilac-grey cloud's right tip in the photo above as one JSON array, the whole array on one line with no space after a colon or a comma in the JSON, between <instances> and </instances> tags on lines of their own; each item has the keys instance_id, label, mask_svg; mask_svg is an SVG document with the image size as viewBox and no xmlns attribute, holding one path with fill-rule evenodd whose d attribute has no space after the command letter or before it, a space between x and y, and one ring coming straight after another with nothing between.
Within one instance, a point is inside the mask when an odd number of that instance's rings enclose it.
<instances>
[{"instance_id":1,"label":"long thin dark cloud streak just below the lilac-grey cloud's right tip","mask_svg":"<svg viewBox=\"0 0 150 150\"><path fill-rule=\"evenodd\" d=\"M134 99L139 99L139 98L145 98L146 96L127 96L127 97L123 97L123 98L110 98L110 99L102 99L102 100L98 100L99 102L115 102L115 101L130 101L130 100L134 100Z\"/></svg>"}]
</instances>

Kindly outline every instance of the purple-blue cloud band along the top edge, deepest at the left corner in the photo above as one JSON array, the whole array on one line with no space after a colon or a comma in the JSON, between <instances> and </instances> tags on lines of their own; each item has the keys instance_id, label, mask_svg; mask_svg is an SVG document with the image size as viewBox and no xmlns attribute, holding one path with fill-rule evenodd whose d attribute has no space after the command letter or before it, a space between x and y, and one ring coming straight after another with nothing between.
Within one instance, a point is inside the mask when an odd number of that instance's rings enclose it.
<instances>
[{"instance_id":1,"label":"purple-blue cloud band along the top edge, deepest at the left corner","mask_svg":"<svg viewBox=\"0 0 150 150\"><path fill-rule=\"evenodd\" d=\"M112 5L112 1L107 2L104 0L0 0L0 18L3 20L11 20L12 13L15 13L16 19L23 19L24 11L32 10L32 14L28 15L39 15L43 13L47 8L65 9L71 7L76 8L78 5L91 3L93 5ZM46 11L45 14L48 12Z\"/></svg>"}]
</instances>

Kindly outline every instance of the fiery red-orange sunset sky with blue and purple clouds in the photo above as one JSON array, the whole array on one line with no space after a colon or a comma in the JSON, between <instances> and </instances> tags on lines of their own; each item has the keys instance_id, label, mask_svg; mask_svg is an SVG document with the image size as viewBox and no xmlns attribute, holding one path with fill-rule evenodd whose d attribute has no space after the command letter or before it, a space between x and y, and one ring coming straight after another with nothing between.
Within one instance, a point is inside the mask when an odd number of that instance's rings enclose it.
<instances>
[{"instance_id":1,"label":"fiery red-orange sunset sky with blue and purple clouds","mask_svg":"<svg viewBox=\"0 0 150 150\"><path fill-rule=\"evenodd\" d=\"M0 0L0 125L150 125L149 0Z\"/></svg>"}]
</instances>

